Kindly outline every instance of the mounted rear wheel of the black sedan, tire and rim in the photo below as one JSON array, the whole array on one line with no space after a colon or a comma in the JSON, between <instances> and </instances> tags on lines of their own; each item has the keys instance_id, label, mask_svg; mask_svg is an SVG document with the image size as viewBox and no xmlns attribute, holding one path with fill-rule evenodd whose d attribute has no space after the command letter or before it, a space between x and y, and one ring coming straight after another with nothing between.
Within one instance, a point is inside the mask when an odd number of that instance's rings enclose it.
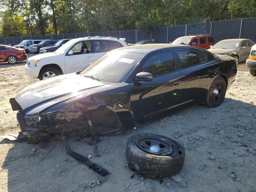
<instances>
[{"instance_id":1,"label":"mounted rear wheel of the black sedan, tire and rim","mask_svg":"<svg viewBox=\"0 0 256 192\"><path fill-rule=\"evenodd\" d=\"M227 84L224 78L217 77L211 84L207 92L206 104L210 107L217 107L224 101Z\"/></svg>"}]
</instances>

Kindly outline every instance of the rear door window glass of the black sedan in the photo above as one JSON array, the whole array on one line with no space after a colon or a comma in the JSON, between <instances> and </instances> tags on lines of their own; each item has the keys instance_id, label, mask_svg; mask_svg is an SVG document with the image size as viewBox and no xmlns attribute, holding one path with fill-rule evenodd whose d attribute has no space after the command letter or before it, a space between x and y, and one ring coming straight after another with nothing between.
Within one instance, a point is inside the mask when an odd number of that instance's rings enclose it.
<instances>
[{"instance_id":1,"label":"rear door window glass of the black sedan","mask_svg":"<svg viewBox=\"0 0 256 192\"><path fill-rule=\"evenodd\" d=\"M177 53L182 64L181 68L194 66L206 61L206 55L196 51L178 50Z\"/></svg>"}]
</instances>

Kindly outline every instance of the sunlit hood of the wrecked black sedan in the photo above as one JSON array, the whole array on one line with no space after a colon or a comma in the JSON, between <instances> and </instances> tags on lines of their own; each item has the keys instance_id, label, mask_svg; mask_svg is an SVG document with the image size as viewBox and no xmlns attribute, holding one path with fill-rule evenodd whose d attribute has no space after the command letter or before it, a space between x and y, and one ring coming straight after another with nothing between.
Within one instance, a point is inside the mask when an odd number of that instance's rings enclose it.
<instances>
[{"instance_id":1,"label":"sunlit hood of the wrecked black sedan","mask_svg":"<svg viewBox=\"0 0 256 192\"><path fill-rule=\"evenodd\" d=\"M28 112L40 105L52 106L80 94L111 86L111 84L71 73L36 82L19 92L15 100Z\"/></svg>"}]
</instances>

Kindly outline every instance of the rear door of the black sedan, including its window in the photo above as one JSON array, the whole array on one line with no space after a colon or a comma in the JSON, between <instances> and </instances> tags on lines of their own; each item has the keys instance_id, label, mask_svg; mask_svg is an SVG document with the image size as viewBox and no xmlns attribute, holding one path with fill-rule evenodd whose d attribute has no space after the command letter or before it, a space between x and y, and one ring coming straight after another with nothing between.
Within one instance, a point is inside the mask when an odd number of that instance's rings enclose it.
<instances>
[{"instance_id":1,"label":"rear door of the black sedan, including its window","mask_svg":"<svg viewBox=\"0 0 256 192\"><path fill-rule=\"evenodd\" d=\"M206 98L214 78L214 62L198 50L176 50L182 74L182 102L198 102Z\"/></svg>"}]
</instances>

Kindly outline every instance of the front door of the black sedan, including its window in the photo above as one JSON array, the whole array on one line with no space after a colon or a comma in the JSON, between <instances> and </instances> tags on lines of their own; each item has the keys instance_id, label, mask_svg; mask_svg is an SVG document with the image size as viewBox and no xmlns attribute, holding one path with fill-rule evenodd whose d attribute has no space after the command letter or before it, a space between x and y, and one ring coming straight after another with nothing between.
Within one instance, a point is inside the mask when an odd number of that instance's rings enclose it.
<instances>
[{"instance_id":1,"label":"front door of the black sedan, including its window","mask_svg":"<svg viewBox=\"0 0 256 192\"><path fill-rule=\"evenodd\" d=\"M139 72L151 73L153 80L134 83L133 98L136 92L139 101L132 106L135 116L147 118L179 104L181 74L176 70L173 51L150 56L136 73Z\"/></svg>"}]
</instances>

